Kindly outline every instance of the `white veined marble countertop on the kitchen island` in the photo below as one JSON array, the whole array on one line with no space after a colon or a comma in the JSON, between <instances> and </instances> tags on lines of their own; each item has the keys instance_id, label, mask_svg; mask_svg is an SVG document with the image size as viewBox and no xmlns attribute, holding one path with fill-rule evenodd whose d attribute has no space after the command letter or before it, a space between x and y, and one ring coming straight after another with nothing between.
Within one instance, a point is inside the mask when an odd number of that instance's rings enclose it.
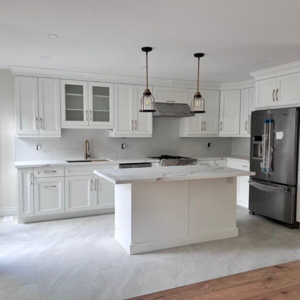
<instances>
[{"instance_id":1,"label":"white veined marble countertop on the kitchen island","mask_svg":"<svg viewBox=\"0 0 300 300\"><path fill-rule=\"evenodd\" d=\"M209 165L180 165L111 170L95 169L94 173L114 184L255 175L255 172Z\"/></svg>"}]
</instances>

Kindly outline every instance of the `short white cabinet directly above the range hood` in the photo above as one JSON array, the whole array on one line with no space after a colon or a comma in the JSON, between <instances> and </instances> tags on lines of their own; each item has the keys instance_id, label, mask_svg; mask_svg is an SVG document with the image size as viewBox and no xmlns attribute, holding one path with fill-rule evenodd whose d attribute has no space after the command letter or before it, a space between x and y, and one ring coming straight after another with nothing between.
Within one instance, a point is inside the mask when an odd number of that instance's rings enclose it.
<instances>
[{"instance_id":1,"label":"short white cabinet directly above the range hood","mask_svg":"<svg viewBox=\"0 0 300 300\"><path fill-rule=\"evenodd\" d=\"M187 88L171 86L153 86L155 102L163 103L189 103L192 98L187 98Z\"/></svg>"}]
</instances>

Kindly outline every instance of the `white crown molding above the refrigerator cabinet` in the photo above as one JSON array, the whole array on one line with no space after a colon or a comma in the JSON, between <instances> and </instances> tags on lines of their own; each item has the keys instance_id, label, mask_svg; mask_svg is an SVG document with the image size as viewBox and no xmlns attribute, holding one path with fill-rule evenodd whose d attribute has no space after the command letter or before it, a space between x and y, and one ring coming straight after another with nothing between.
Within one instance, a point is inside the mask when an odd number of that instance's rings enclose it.
<instances>
[{"instance_id":1,"label":"white crown molding above the refrigerator cabinet","mask_svg":"<svg viewBox=\"0 0 300 300\"><path fill-rule=\"evenodd\" d=\"M253 76L255 80L262 80L296 72L300 72L300 60L251 72L250 75Z\"/></svg>"}]
</instances>

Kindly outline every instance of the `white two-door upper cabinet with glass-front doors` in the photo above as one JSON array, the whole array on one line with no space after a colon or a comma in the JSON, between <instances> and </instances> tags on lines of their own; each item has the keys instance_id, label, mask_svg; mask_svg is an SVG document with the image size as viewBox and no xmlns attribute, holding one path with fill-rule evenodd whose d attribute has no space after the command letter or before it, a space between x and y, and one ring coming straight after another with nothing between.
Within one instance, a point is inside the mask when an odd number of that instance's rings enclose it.
<instances>
[{"instance_id":1,"label":"white two-door upper cabinet with glass-front doors","mask_svg":"<svg viewBox=\"0 0 300 300\"><path fill-rule=\"evenodd\" d=\"M113 126L113 83L60 80L62 128Z\"/></svg>"}]
</instances>

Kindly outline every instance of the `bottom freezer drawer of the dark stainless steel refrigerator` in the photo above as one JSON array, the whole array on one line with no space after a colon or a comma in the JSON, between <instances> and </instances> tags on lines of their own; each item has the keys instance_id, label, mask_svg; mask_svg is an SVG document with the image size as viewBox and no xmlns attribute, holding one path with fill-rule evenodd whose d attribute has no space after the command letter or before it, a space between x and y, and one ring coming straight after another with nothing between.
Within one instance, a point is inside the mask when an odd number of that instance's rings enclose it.
<instances>
[{"instance_id":1,"label":"bottom freezer drawer of the dark stainless steel refrigerator","mask_svg":"<svg viewBox=\"0 0 300 300\"><path fill-rule=\"evenodd\" d=\"M250 179L249 210L293 224L295 193L295 187Z\"/></svg>"}]
</instances>

